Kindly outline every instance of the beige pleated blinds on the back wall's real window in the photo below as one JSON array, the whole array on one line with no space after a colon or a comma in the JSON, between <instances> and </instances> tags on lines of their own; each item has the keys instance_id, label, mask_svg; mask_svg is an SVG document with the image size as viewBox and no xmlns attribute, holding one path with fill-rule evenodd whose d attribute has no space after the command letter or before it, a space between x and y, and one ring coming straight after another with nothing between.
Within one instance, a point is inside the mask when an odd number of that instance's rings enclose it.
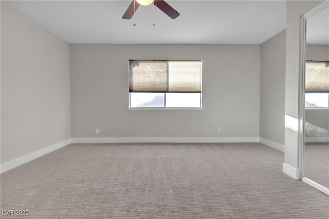
<instances>
[{"instance_id":1,"label":"beige pleated blinds on the back wall's real window","mask_svg":"<svg viewBox=\"0 0 329 219\"><path fill-rule=\"evenodd\" d=\"M129 61L130 92L201 93L202 61Z\"/></svg>"}]
</instances>

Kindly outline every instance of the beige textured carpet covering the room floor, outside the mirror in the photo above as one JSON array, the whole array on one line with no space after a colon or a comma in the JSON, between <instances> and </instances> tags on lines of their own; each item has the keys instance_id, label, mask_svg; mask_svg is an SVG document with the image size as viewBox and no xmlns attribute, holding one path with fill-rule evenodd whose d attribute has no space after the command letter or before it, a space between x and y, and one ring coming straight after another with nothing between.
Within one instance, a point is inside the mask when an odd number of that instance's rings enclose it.
<instances>
[{"instance_id":1,"label":"beige textured carpet covering the room floor, outside the mirror","mask_svg":"<svg viewBox=\"0 0 329 219\"><path fill-rule=\"evenodd\" d=\"M255 143L72 144L1 174L17 218L329 218L329 196ZM13 218L2 216L1 218Z\"/></svg>"}]
</instances>

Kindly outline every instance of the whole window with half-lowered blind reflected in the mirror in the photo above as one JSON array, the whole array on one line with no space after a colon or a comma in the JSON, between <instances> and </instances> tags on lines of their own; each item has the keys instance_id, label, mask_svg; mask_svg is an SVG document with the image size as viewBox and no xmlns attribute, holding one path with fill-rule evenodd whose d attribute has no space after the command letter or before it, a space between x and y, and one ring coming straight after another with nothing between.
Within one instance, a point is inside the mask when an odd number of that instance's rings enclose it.
<instances>
[{"instance_id":1,"label":"whole window with half-lowered blind reflected in the mirror","mask_svg":"<svg viewBox=\"0 0 329 219\"><path fill-rule=\"evenodd\" d=\"M306 61L305 108L329 107L329 62Z\"/></svg>"}]
</instances>

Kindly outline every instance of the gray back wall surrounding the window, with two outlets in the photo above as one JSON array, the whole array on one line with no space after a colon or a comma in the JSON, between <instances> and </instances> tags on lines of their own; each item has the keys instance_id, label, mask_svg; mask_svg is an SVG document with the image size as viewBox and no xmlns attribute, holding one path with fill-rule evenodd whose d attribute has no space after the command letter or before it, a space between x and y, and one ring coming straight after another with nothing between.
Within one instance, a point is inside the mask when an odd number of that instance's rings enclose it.
<instances>
[{"instance_id":1,"label":"gray back wall surrounding the window, with two outlets","mask_svg":"<svg viewBox=\"0 0 329 219\"><path fill-rule=\"evenodd\" d=\"M204 109L128 110L128 59L202 59ZM72 44L70 71L73 138L259 137L260 45Z\"/></svg>"}]
</instances>

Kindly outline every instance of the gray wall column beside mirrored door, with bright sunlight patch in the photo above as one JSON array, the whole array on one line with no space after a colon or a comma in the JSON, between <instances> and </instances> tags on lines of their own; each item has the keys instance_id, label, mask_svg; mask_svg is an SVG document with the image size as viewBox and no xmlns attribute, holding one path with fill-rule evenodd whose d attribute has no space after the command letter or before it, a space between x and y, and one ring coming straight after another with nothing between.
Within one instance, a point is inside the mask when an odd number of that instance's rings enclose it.
<instances>
[{"instance_id":1,"label":"gray wall column beside mirrored door, with bright sunlight patch","mask_svg":"<svg viewBox=\"0 0 329 219\"><path fill-rule=\"evenodd\" d=\"M285 86L285 164L298 169L298 83L300 61L300 15L323 1L287 1L286 86Z\"/></svg>"}]
</instances>

